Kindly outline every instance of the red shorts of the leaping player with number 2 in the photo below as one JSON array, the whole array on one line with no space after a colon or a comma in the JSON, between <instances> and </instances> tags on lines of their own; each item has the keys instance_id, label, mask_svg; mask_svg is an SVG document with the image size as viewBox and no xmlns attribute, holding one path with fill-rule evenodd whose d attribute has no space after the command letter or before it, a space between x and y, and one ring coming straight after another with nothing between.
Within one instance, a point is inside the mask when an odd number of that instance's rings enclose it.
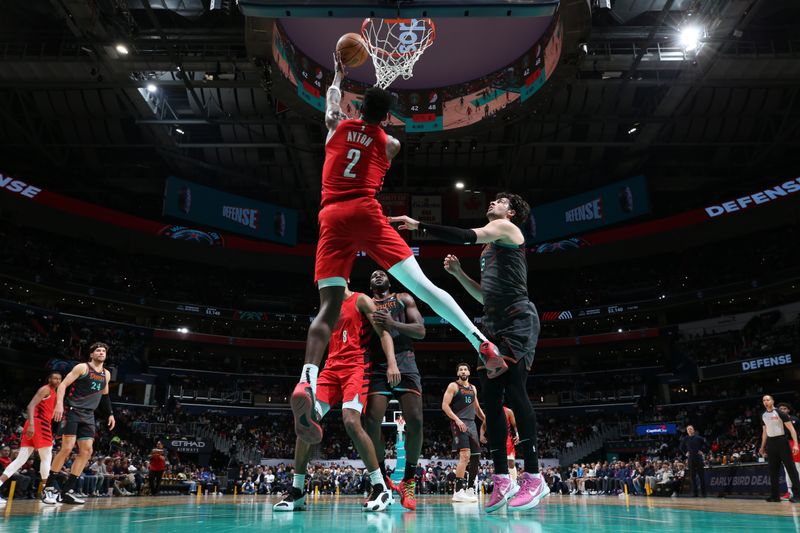
<instances>
[{"instance_id":1,"label":"red shorts of the leaping player with number 2","mask_svg":"<svg viewBox=\"0 0 800 533\"><path fill-rule=\"evenodd\" d=\"M365 252L389 270L413 254L375 198L354 198L323 207L319 212L319 241L314 283L350 277L356 253Z\"/></svg>"}]
</instances>

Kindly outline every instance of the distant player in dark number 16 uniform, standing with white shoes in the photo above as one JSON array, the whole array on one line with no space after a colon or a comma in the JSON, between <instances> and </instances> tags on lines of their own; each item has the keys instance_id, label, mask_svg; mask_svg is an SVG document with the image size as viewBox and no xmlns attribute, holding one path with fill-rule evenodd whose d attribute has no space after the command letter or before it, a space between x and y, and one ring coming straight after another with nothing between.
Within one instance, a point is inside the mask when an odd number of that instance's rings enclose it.
<instances>
[{"instance_id":1,"label":"distant player in dark number 16 uniform, standing with white shoes","mask_svg":"<svg viewBox=\"0 0 800 533\"><path fill-rule=\"evenodd\" d=\"M458 452L458 466L456 467L456 490L453 494L454 502L475 503L478 495L475 493L475 477L478 475L481 458L481 445L478 437L478 427L475 417L486 424L478 402L478 391L475 385L469 382L469 365L459 363L456 367L458 379L444 391L442 398L442 411L450 419L450 431L453 434L453 451ZM464 472L469 466L469 480L464 477ZM467 487L467 485L473 485Z\"/></svg>"}]
</instances>

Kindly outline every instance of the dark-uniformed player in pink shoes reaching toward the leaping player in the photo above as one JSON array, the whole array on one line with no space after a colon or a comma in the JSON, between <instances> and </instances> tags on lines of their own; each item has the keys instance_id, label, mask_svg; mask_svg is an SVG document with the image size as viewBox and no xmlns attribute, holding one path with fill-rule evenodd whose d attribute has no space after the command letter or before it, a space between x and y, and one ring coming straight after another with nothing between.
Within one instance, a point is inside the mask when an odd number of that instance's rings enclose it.
<instances>
[{"instance_id":1,"label":"dark-uniformed player in pink shoes reaching toward the leaping player","mask_svg":"<svg viewBox=\"0 0 800 533\"><path fill-rule=\"evenodd\" d=\"M486 412L486 434L494 462L494 488L487 512L501 509L506 503L513 510L530 509L549 494L550 489L539 473L536 452L536 414L528 398L526 383L539 338L539 315L528 298L528 262L525 237L520 226L530 213L520 196L499 193L489 204L489 223L482 228L462 229L452 226L420 224L408 217L390 217L401 222L400 229L420 229L438 239L458 244L485 244L481 254L480 283L467 276L454 255L448 255L444 267L467 292L484 307L483 326L508 361L508 371L489 379L491 369L478 367ZM520 446L525 455L525 473L519 491L508 474L506 440L508 425L503 414L503 399L509 403L519 424Z\"/></svg>"}]
</instances>

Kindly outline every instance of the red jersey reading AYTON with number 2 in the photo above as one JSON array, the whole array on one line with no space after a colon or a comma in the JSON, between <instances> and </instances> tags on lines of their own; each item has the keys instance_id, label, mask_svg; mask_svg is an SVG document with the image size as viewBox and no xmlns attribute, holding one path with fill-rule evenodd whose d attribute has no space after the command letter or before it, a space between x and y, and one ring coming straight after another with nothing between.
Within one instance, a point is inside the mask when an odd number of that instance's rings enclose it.
<instances>
[{"instance_id":1,"label":"red jersey reading AYTON with number 2","mask_svg":"<svg viewBox=\"0 0 800 533\"><path fill-rule=\"evenodd\" d=\"M386 132L379 124L343 120L325 145L322 206L374 198L383 187L391 162L386 157Z\"/></svg>"}]
</instances>

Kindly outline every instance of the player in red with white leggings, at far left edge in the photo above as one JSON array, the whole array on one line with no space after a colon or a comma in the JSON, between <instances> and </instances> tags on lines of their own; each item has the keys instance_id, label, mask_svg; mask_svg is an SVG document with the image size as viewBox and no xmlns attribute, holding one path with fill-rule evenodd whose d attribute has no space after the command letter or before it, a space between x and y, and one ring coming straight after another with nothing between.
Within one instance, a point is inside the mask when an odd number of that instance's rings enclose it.
<instances>
[{"instance_id":1,"label":"player in red with white leggings, at far left edge","mask_svg":"<svg viewBox=\"0 0 800 533\"><path fill-rule=\"evenodd\" d=\"M22 428L22 441L19 445L19 455L8 465L0 476L0 486L8 478L22 468L28 458L36 450L39 454L39 473L42 481L47 481L50 474L50 462L53 459L53 410L56 407L56 390L61 383L61 373L51 372L47 378L47 385L42 385L28 403L28 420ZM55 495L42 494L44 503L56 503Z\"/></svg>"}]
</instances>

